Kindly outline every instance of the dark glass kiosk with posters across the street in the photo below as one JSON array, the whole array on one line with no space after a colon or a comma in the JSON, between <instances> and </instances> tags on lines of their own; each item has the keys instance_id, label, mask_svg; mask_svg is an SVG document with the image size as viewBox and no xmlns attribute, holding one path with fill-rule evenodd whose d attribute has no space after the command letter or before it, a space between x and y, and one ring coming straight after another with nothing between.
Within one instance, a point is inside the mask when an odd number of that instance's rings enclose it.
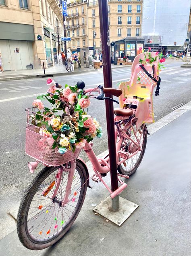
<instances>
[{"instance_id":1,"label":"dark glass kiosk with posters across the street","mask_svg":"<svg viewBox=\"0 0 191 256\"><path fill-rule=\"evenodd\" d=\"M138 55L139 48L143 49L145 39L141 37L126 37L122 40L112 42L111 44L111 59L114 64L117 64L118 58L128 57L133 61Z\"/></svg>"}]
</instances>

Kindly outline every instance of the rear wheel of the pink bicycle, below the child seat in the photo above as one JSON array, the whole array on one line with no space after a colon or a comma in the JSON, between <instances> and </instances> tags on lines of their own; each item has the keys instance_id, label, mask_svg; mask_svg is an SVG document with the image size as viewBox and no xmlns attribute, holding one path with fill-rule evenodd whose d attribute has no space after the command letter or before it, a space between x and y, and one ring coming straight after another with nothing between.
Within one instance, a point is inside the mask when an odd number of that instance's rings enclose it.
<instances>
[{"instance_id":1,"label":"rear wheel of the pink bicycle, below the child seat","mask_svg":"<svg viewBox=\"0 0 191 256\"><path fill-rule=\"evenodd\" d=\"M128 140L124 138L121 143L121 148L120 150L128 152L129 156L131 158L127 159L125 162L121 163L118 166L118 172L123 175L128 175L130 176L133 174L137 168L139 167L147 145L147 127L145 124L141 125L139 129L136 128L136 124L133 125L133 128L135 130L135 133L133 133L133 129L129 127L127 130L127 134L131 136L133 140L136 140L135 134L137 135L137 138L141 137L141 151L137 152L133 157L131 157L131 154L133 154L133 151L136 151L136 146L131 142L131 140ZM142 133L142 135L141 135ZM121 161L122 159L119 159Z\"/></svg>"}]
</instances>

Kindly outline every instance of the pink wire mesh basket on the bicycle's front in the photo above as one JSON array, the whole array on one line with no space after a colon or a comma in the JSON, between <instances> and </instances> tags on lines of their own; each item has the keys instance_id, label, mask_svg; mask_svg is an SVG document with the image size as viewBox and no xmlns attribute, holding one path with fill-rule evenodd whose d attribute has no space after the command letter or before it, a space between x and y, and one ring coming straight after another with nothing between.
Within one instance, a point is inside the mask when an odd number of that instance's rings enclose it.
<instances>
[{"instance_id":1,"label":"pink wire mesh basket on the bicycle's front","mask_svg":"<svg viewBox=\"0 0 191 256\"><path fill-rule=\"evenodd\" d=\"M27 108L27 127L26 127L26 144L25 152L28 156L44 163L48 166L59 166L64 163L76 159L80 152L80 148L76 148L75 152L67 150L65 154L60 154L58 148L52 149L54 139L52 137L45 136L43 133L44 125L39 126L37 115L43 116L43 120L46 121L47 116L37 114L36 108ZM38 110L37 110L38 111ZM39 131L42 131L41 134Z\"/></svg>"}]
</instances>

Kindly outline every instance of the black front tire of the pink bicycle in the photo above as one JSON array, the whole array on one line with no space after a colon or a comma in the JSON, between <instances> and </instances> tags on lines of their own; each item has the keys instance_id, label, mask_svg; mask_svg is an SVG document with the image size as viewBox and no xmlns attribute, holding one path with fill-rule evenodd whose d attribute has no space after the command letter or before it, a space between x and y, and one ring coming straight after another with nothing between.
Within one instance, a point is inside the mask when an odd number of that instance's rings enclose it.
<instances>
[{"instance_id":1,"label":"black front tire of the pink bicycle","mask_svg":"<svg viewBox=\"0 0 191 256\"><path fill-rule=\"evenodd\" d=\"M79 203L77 203L77 207L75 207L74 214L71 219L69 219L69 222L67 225L64 225L64 228L61 228L61 231L56 235L53 235L52 238L46 240L46 241L37 241L36 239L33 239L31 235L29 234L28 228L27 228L27 215L29 212L29 207L31 205L32 199L35 196L35 193L37 192L37 189L39 186L43 183L43 181L49 177L49 175L54 172L59 167L45 167L38 173L38 175L34 178L34 180L31 182L30 186L27 188L27 191L25 192L25 195L23 196L23 199L21 200L21 204L19 207L19 212L17 216L17 233L19 236L19 240L21 243L30 250L42 250L45 249L54 243L56 243L58 240L60 240L66 232L71 228L73 222L77 218L81 207L83 205L83 201L85 199L85 194L87 190L87 175L85 172L85 168L81 163L78 161L76 162L77 167L76 170L78 171L80 175L81 180L81 192L79 195ZM65 174L64 174L65 175ZM64 208L64 207L63 207ZM54 210L53 210L54 211ZM59 209L58 209L59 212ZM63 210L62 210L63 213ZM54 218L54 217L53 217ZM33 218L33 220L36 218ZM54 224L53 224L54 226Z\"/></svg>"}]
</instances>

